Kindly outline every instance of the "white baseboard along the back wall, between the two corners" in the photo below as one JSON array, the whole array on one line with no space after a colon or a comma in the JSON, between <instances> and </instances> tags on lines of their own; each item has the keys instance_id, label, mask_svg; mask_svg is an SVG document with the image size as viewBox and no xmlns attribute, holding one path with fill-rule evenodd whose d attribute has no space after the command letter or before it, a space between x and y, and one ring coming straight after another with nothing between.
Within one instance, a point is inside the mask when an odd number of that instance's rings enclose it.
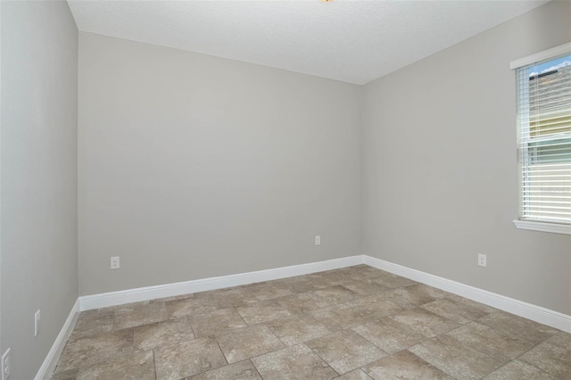
<instances>
[{"instance_id":1,"label":"white baseboard along the back wall, between the two corners","mask_svg":"<svg viewBox=\"0 0 571 380\"><path fill-rule=\"evenodd\" d=\"M279 278L308 275L336 268L345 268L363 263L363 256L351 256L342 259L311 262L309 264L293 265L236 275L210 277L181 283L146 286L119 292L84 295L79 297L81 311L106 308L130 302L155 300L157 298L173 297L182 294L204 292L230 286L247 285Z\"/></svg>"}]
</instances>

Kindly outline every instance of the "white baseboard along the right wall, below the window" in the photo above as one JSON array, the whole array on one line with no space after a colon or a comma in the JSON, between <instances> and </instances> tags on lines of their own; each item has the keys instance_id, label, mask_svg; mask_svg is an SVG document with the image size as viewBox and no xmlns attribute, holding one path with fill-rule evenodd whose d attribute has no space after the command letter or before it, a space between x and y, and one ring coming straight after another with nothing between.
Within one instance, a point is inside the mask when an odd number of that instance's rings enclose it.
<instances>
[{"instance_id":1,"label":"white baseboard along the right wall, below the window","mask_svg":"<svg viewBox=\"0 0 571 380\"><path fill-rule=\"evenodd\" d=\"M407 277L422 284L434 286L443 291L454 293L470 300L484 303L499 310L507 311L519 317L539 322L543 325L559 328L571 333L571 316L531 303L518 301L501 294L488 292L474 286L465 285L443 277L434 276L417 269L403 267L392 262L363 255L363 263L371 267L391 272L401 277Z\"/></svg>"}]
</instances>

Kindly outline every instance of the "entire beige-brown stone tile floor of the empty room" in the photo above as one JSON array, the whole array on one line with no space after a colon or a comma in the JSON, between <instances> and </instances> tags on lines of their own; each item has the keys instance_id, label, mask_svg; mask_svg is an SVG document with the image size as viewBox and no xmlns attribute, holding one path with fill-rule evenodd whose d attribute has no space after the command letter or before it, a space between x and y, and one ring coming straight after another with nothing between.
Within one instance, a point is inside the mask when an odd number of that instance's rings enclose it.
<instances>
[{"instance_id":1,"label":"entire beige-brown stone tile floor of the empty room","mask_svg":"<svg viewBox=\"0 0 571 380\"><path fill-rule=\"evenodd\" d=\"M366 265L79 314L63 379L571 379L571 335Z\"/></svg>"}]
</instances>

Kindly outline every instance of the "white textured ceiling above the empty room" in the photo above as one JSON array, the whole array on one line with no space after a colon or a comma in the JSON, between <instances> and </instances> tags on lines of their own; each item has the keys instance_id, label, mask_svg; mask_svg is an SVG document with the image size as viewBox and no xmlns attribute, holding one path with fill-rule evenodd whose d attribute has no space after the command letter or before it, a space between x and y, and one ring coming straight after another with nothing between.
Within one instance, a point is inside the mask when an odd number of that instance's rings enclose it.
<instances>
[{"instance_id":1,"label":"white textured ceiling above the empty room","mask_svg":"<svg viewBox=\"0 0 571 380\"><path fill-rule=\"evenodd\" d=\"M359 85L546 2L68 1L79 30Z\"/></svg>"}]
</instances>

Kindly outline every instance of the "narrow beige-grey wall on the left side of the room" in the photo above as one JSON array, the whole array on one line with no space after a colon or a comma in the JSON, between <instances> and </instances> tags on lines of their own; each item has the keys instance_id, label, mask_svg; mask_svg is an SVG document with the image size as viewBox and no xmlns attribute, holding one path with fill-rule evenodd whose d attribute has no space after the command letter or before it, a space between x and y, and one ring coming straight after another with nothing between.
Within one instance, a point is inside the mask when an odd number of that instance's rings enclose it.
<instances>
[{"instance_id":1,"label":"narrow beige-grey wall on the left side of the room","mask_svg":"<svg viewBox=\"0 0 571 380\"><path fill-rule=\"evenodd\" d=\"M65 2L2 2L1 343L11 379L36 376L78 298L77 62Z\"/></svg>"}]
</instances>

